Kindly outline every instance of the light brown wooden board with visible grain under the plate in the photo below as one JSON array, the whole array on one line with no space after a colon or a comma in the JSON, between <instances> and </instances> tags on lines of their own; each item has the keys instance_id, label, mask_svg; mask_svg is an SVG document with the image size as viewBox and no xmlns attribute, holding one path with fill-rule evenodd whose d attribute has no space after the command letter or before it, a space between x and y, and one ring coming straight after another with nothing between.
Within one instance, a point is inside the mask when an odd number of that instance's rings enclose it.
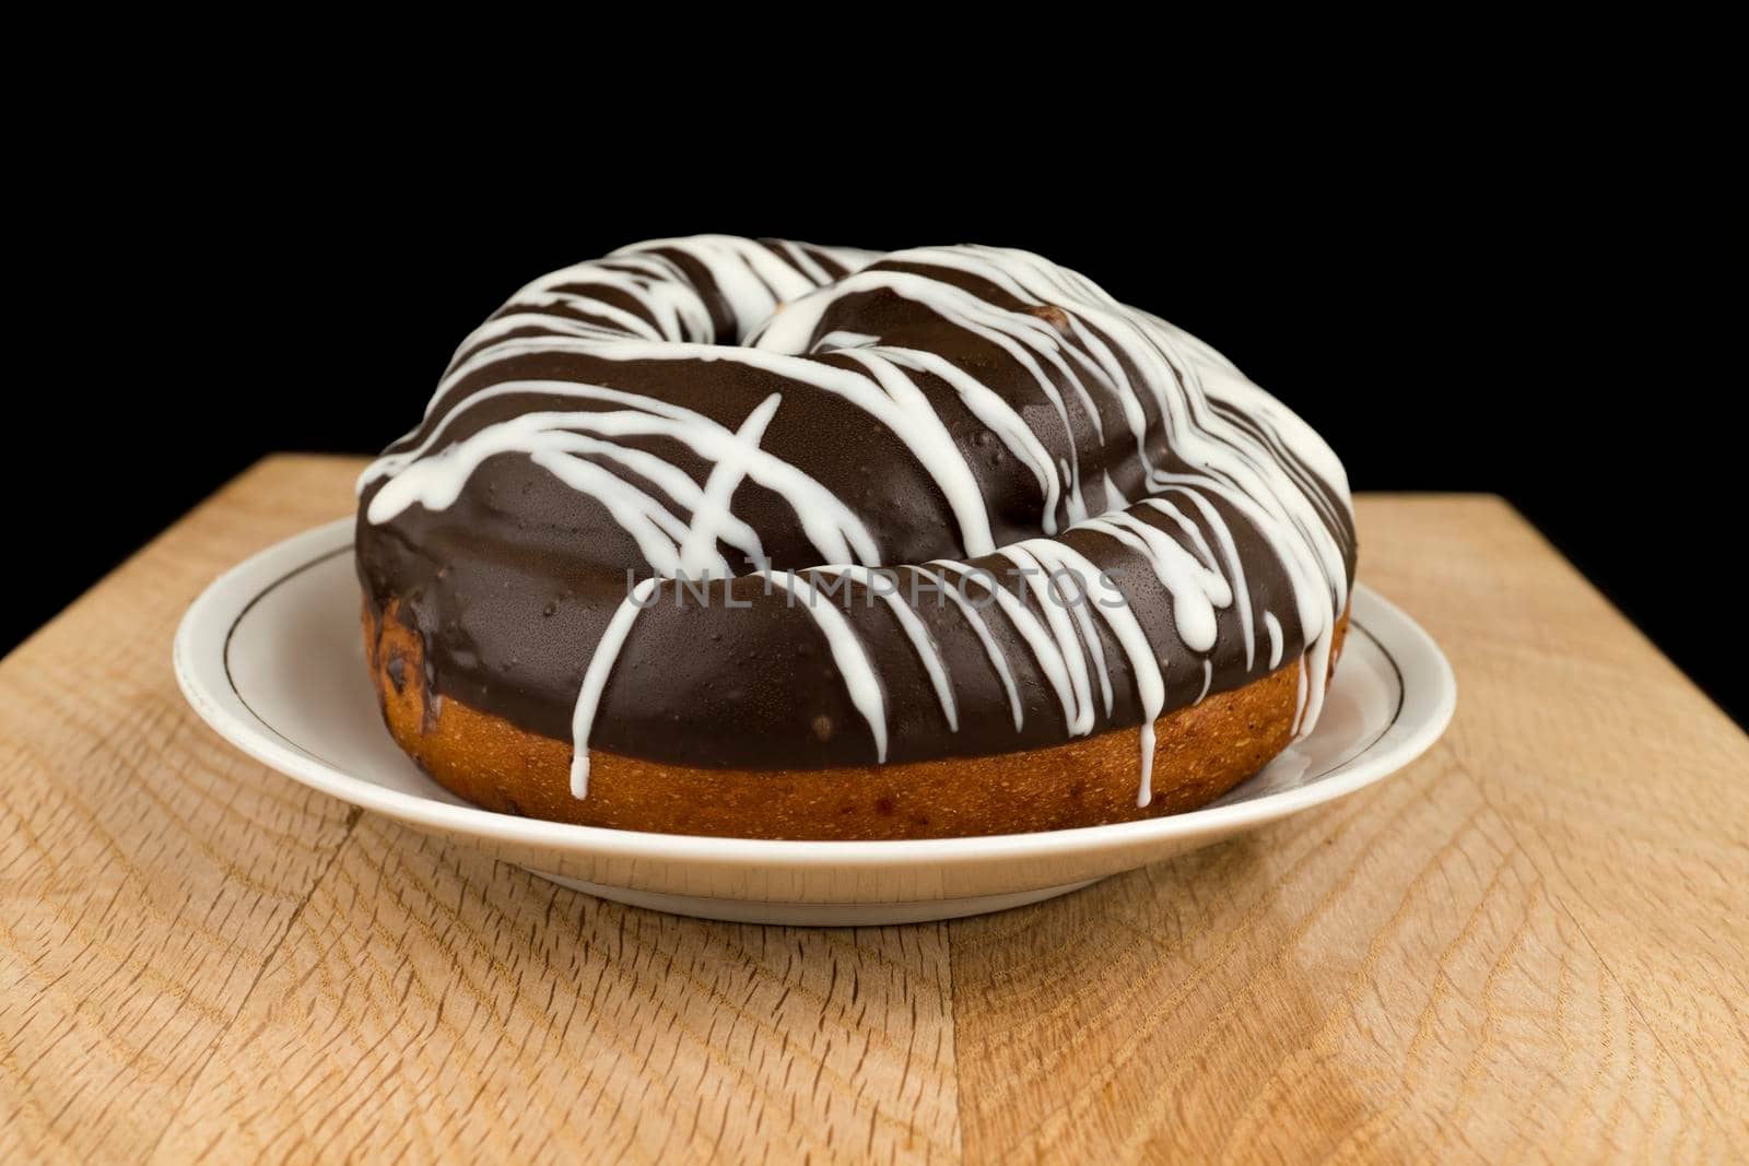
<instances>
[{"instance_id":1,"label":"light brown wooden board with visible grain under the plate","mask_svg":"<svg viewBox=\"0 0 1749 1166\"><path fill-rule=\"evenodd\" d=\"M1749 739L1506 503L1366 496L1403 774L920 927L560 890L245 759L170 640L271 458L0 663L0 1163L1744 1161Z\"/></svg>"}]
</instances>

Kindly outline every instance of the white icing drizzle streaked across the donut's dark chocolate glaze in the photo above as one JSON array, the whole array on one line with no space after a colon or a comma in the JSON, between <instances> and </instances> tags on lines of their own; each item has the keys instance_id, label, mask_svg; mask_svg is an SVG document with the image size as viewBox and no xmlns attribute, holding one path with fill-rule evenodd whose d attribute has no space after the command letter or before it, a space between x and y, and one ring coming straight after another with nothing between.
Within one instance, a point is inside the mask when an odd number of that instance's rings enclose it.
<instances>
[{"instance_id":1,"label":"white icing drizzle streaked across the donut's dark chocolate glaze","mask_svg":"<svg viewBox=\"0 0 1749 1166\"><path fill-rule=\"evenodd\" d=\"M918 271L866 271L876 259L974 276L1025 309L1013 311ZM829 264L850 274L834 281ZM694 285L698 271L721 297L717 315ZM610 292L612 299L600 292ZM826 313L843 297L873 292L922 304L948 325L988 343L1030 378L1037 400L999 393L932 351L861 330L820 330ZM719 343L724 339L719 336L722 311L729 316L733 346ZM1139 806L1153 797L1154 722L1165 708L1167 649L1149 642L1123 593L1062 538L997 545L992 502L967 451L936 413L918 378L946 386L1030 472L1041 498L1037 530L1044 535L1065 528L1098 533L1142 558L1170 596L1172 629L1184 649L1200 657L1198 703L1214 684L1209 654L1216 649L1221 612L1237 615L1247 671L1256 668L1263 647L1238 538L1226 517L1226 512L1238 514L1280 563L1303 636L1293 731L1296 736L1308 732L1317 722L1331 638L1350 584L1343 547L1331 531L1347 517L1341 510L1348 505L1340 462L1310 427L1224 357L1156 316L1118 304L1077 273L1028 252L986 246L930 246L880 257L731 236L638 243L607 259L554 271L512 295L504 311L458 346L425 423L397 442L406 448L392 448L359 482L364 491L387 479L366 509L367 521L387 523L413 505L442 510L456 502L483 462L523 455L595 498L658 577L684 573L691 579L731 573L721 545L763 561L761 531L731 512L736 488L756 482L792 507L826 565L813 570L841 575L883 600L916 652L950 731L958 731L962 710L950 663L929 622L871 572L885 559L864 517L820 481L761 446L784 393L766 395L729 428L696 409L603 385L507 379L465 393L460 388L488 378L495 365L528 357L670 362L675 378L684 378L687 367L700 362L726 362L749 374L775 374L796 392L827 393L873 418L941 491L965 556L995 556L1030 572L1016 594L990 586L969 563L934 559L929 566L939 573L911 568L939 586L965 617L1002 685L1016 732L1025 724L1020 685L986 610L978 610L962 593L965 582L993 596L993 612L1030 650L1072 736L1091 734L1100 710L1107 724L1114 715L1116 685L1098 624L1119 645L1142 713ZM577 407L561 404L523 413L446 444L458 418L511 393L568 399ZM1163 434L1170 465L1177 468L1156 463L1161 449L1149 448L1149 413L1158 418L1153 423L1156 446ZM1107 425L1114 425L1111 442ZM705 460L710 465L705 481L698 482L693 472L654 453L649 439L679 442ZM1135 500L1126 498L1104 468L1109 465L1104 451L1114 444L1128 449L1130 442L1144 472L1146 496ZM1090 449L1098 449L1102 458L1093 462L1098 479L1090 482L1105 500L1105 512L1098 516L1088 514L1083 496L1083 455ZM649 488L630 481L628 474ZM1014 519L1004 521L1011 526ZM1058 601L1048 582L1051 572L1070 572L1084 593L1083 601L1067 607ZM878 760L885 760L887 698L852 622L806 573L759 573L808 608L852 706L868 722ZM644 600L658 586L659 579L645 579L633 589L609 619L589 659L572 720L572 792L577 797L588 792L588 743L602 694ZM1265 612L1261 622L1268 668L1275 671L1287 650L1282 622L1273 612Z\"/></svg>"}]
</instances>

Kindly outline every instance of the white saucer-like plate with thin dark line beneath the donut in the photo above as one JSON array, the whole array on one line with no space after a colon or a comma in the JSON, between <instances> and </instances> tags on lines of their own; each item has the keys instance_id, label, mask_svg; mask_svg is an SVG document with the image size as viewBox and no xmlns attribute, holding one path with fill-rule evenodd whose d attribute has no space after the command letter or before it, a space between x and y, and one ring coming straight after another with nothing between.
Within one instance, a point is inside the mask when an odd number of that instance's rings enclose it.
<instances>
[{"instance_id":1,"label":"white saucer-like plate with thin dark line beneath the donut","mask_svg":"<svg viewBox=\"0 0 1749 1166\"><path fill-rule=\"evenodd\" d=\"M182 692L222 738L324 794L603 899L803 925L1000 911L1217 843L1396 773L1439 738L1457 701L1438 645L1361 586L1317 729L1212 806L1046 834L801 843L516 818L427 778L388 738L371 691L352 519L215 580L182 619L175 664Z\"/></svg>"}]
</instances>

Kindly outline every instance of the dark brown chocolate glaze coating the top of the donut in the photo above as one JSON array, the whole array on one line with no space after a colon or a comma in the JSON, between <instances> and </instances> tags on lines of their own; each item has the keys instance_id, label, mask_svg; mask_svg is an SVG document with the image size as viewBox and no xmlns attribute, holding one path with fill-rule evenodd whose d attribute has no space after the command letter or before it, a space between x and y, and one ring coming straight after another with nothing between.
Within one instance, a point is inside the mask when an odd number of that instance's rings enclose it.
<instances>
[{"instance_id":1,"label":"dark brown chocolate glaze coating the top of the donut","mask_svg":"<svg viewBox=\"0 0 1749 1166\"><path fill-rule=\"evenodd\" d=\"M906 594L913 580L955 573L925 568L929 575L920 575L915 565L951 559L993 572L1048 626L1039 593L1004 575L1014 563L1000 551L967 545L939 463L918 456L888 420L813 383L824 376L838 378L833 385L845 378L873 385L869 360L894 351L895 367L969 467L988 505L993 547L1055 538L1109 572L1161 664L1167 710L1244 685L1272 671L1272 659L1293 663L1319 636L1327 638L1331 621L1319 617L1308 633L1303 612L1341 610L1355 542L1347 482L1322 442L1198 341L1111 302L1074 273L1016 255L1023 253L922 248L876 259L705 236L640 245L547 276L462 344L425 420L366 474L357 565L367 601L378 614L392 608L422 636L432 691L568 739L584 673L630 580L661 572L598 491L561 481L519 448L484 456L470 470L451 467L455 451L469 439L476 446L493 439L516 418L619 414L633 399L684 406L733 432L777 393L759 449L861 517L878 563L897 568ZM861 274L845 278L854 269ZM883 281L881 273L908 281ZM826 290L808 295L817 285ZM1041 287L1055 294L1041 297ZM756 330L784 302L770 327ZM983 311L1007 322L990 325ZM785 320L791 313L796 318ZM1020 316L1030 323L1016 323ZM1004 343L1016 329L1021 357ZM1158 364L1140 362L1139 344L1153 344ZM1055 346L1060 360L1035 346ZM948 367L916 367L906 350L934 353ZM749 353L749 360L757 351L761 362L722 358L722 351ZM1011 407L1048 451L1062 479L1055 502L1048 503L1039 468L1016 453L1021 439L999 432L990 409L971 400L953 372ZM554 388L565 385L631 397L579 399ZM1140 441L1132 425L1137 416ZM1198 442L1223 442L1223 456L1231 446L1240 449L1240 465L1268 463L1272 496L1258 498L1254 486L1200 456L1203 446L1188 441L1191 425ZM575 432L603 430L582 425ZM698 486L712 477L715 462L670 435L616 434L610 441ZM610 451L567 456L612 472L680 523L694 521L652 477L656 462L630 465ZM392 482L425 463L436 463L430 481L460 482L453 500L422 493L373 507ZM1146 503L1130 505L1146 496L1170 500L1184 523ZM1076 526L1084 516L1123 509L1214 573L1244 580L1244 601L1235 596L1216 607L1212 647L1184 642L1175 594L1147 554L1109 531ZM805 572L827 561L803 519L808 503L749 477L733 489L728 510L756 531L770 570ZM756 573L759 565L745 547L719 540L715 551L735 577L708 584L708 601L666 579L658 603L638 612L600 694L589 743L651 760L745 769L881 759L820 621ZM1313 570L1320 573L1308 580ZM833 580L829 573L808 577ZM836 610L878 678L885 760L999 753L1072 736L1035 645L999 607L983 610L983 624L1007 664L1020 725L1002 673L964 608L927 589L908 605L946 673L955 729L927 654L892 607L862 584L845 587L848 608L840 601ZM1327 594L1312 603L1308 589ZM978 586L964 594L985 601ZM745 607L729 607L726 598ZM1272 621L1280 629L1273 650ZM1104 659L1111 687L1107 711L1090 671L1093 731L1142 722L1135 668L1114 629L1095 617L1081 635L1098 640L1091 657Z\"/></svg>"}]
</instances>

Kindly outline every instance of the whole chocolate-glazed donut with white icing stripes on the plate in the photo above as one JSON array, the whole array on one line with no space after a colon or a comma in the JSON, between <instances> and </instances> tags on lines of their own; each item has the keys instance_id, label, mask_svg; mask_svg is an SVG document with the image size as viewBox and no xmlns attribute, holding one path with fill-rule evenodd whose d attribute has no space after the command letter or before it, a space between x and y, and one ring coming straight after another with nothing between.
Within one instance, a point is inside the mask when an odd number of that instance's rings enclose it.
<instances>
[{"instance_id":1,"label":"whole chocolate-glazed donut with white icing stripes on the plate","mask_svg":"<svg viewBox=\"0 0 1749 1166\"><path fill-rule=\"evenodd\" d=\"M752 837L1172 813L1310 731L1347 475L1037 255L638 243L511 297L360 479L395 739L491 809Z\"/></svg>"}]
</instances>

